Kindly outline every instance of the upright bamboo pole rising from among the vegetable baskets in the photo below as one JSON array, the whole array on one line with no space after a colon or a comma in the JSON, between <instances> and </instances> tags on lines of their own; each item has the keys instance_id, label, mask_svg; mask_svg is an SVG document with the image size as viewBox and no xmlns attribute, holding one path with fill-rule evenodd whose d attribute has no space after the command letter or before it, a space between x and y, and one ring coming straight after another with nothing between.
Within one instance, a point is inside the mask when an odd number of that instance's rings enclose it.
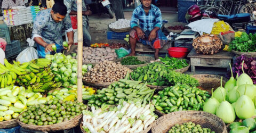
<instances>
[{"instance_id":1,"label":"upright bamboo pole rising from among the vegetable baskets","mask_svg":"<svg viewBox=\"0 0 256 133\"><path fill-rule=\"evenodd\" d=\"M82 0L77 0L77 100L82 101L82 59L83 59L83 24L82 24Z\"/></svg>"}]
</instances>

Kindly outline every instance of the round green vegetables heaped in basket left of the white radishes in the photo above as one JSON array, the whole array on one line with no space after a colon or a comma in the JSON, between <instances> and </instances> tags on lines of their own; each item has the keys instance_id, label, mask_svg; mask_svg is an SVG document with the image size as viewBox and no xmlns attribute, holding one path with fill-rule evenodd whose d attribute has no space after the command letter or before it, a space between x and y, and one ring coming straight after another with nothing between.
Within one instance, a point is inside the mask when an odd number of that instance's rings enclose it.
<instances>
[{"instance_id":1,"label":"round green vegetables heaped in basket left of the white radishes","mask_svg":"<svg viewBox=\"0 0 256 133\"><path fill-rule=\"evenodd\" d=\"M82 113L86 105L78 102L50 99L45 104L30 106L19 116L19 120L26 124L38 126L51 125L68 121Z\"/></svg>"}]
</instances>

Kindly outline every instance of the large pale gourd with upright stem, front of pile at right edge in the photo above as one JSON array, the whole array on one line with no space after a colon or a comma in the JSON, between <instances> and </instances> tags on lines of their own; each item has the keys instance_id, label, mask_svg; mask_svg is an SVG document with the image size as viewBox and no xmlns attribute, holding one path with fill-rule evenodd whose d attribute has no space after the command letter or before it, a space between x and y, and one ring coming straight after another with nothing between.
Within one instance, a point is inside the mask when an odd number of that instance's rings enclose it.
<instances>
[{"instance_id":1,"label":"large pale gourd with upright stem, front of pile at right edge","mask_svg":"<svg viewBox=\"0 0 256 133\"><path fill-rule=\"evenodd\" d=\"M247 88L246 86L247 84L245 84L244 95L239 97L236 101L235 111L239 119L251 118L254 115L255 108L252 99L245 95Z\"/></svg>"}]
</instances>

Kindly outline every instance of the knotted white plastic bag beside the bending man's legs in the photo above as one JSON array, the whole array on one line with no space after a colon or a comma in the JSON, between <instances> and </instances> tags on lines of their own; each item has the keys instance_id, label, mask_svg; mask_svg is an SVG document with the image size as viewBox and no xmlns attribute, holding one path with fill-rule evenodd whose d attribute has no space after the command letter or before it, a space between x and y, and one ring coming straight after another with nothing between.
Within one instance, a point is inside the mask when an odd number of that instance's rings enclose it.
<instances>
[{"instance_id":1,"label":"knotted white plastic bag beside the bending man's legs","mask_svg":"<svg viewBox=\"0 0 256 133\"><path fill-rule=\"evenodd\" d=\"M35 41L28 38L27 42L29 47L24 49L16 58L16 60L19 61L20 63L29 62L33 59L38 59L38 53L36 49L33 47L35 44Z\"/></svg>"}]
</instances>

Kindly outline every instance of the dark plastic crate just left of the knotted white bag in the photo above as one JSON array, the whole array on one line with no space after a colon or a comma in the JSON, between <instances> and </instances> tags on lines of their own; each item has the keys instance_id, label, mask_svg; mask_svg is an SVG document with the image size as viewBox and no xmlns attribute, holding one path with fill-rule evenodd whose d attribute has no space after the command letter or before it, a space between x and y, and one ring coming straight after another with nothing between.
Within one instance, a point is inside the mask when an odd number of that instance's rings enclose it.
<instances>
[{"instance_id":1,"label":"dark plastic crate just left of the knotted white bag","mask_svg":"<svg viewBox=\"0 0 256 133\"><path fill-rule=\"evenodd\" d=\"M13 55L17 55L21 52L20 48L20 41L19 40L12 40L11 44L6 45L5 49L5 57L11 57Z\"/></svg>"}]
</instances>

